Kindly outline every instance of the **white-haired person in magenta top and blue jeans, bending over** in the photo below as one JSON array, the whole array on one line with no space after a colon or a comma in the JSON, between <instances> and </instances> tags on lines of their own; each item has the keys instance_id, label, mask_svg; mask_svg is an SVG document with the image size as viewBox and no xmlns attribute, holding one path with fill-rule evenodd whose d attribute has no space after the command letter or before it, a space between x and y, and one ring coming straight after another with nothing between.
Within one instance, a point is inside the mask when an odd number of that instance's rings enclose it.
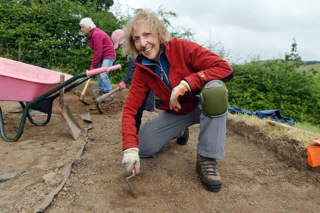
<instances>
[{"instance_id":1,"label":"white-haired person in magenta top and blue jeans, bending over","mask_svg":"<svg viewBox=\"0 0 320 213\"><path fill-rule=\"evenodd\" d=\"M116 54L108 34L96 27L91 18L88 17L80 20L80 26L83 34L88 36L88 44L93 50L93 59L91 61L90 70L104 66L112 66ZM97 75L97 80L99 95L103 95L112 90L107 72ZM112 96L109 96L104 101L111 100L113 100L113 98Z\"/></svg>"}]
</instances>

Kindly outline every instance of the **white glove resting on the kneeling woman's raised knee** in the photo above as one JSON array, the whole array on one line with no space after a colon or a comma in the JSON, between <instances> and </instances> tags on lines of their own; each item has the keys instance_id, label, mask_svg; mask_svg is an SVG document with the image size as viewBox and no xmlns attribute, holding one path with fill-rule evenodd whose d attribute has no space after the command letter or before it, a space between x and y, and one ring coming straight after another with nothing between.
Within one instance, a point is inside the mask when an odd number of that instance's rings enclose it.
<instances>
[{"instance_id":1,"label":"white glove resting on the kneeling woman's raised knee","mask_svg":"<svg viewBox=\"0 0 320 213\"><path fill-rule=\"evenodd\" d=\"M184 80L182 80L179 85L172 89L169 103L170 110L178 111L179 109L181 109L178 99L188 91L190 92L191 88L189 84Z\"/></svg>"}]
</instances>

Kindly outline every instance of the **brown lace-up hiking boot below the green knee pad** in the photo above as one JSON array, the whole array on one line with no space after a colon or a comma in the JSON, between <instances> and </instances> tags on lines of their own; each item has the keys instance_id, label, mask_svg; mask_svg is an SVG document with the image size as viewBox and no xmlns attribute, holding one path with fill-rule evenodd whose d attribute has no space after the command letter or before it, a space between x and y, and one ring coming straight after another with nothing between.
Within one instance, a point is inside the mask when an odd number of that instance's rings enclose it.
<instances>
[{"instance_id":1,"label":"brown lace-up hiking boot below the green knee pad","mask_svg":"<svg viewBox=\"0 0 320 213\"><path fill-rule=\"evenodd\" d=\"M221 178L216 166L215 158L207 158L196 155L196 172L199 174L201 183L208 191L220 191Z\"/></svg>"}]
</instances>

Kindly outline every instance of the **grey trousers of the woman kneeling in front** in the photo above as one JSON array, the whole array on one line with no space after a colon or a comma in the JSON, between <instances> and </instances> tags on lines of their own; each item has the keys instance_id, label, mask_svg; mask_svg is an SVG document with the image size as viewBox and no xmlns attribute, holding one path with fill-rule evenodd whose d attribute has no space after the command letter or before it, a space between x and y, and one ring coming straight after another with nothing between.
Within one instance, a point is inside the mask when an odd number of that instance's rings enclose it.
<instances>
[{"instance_id":1,"label":"grey trousers of the woman kneeling in front","mask_svg":"<svg viewBox=\"0 0 320 213\"><path fill-rule=\"evenodd\" d=\"M199 123L197 153L208 158L222 158L226 137L226 115L227 111L222 115L205 116L201 113L200 104L185 115L160 111L139 131L139 156L155 157L165 144L179 136L185 128Z\"/></svg>"}]
</instances>

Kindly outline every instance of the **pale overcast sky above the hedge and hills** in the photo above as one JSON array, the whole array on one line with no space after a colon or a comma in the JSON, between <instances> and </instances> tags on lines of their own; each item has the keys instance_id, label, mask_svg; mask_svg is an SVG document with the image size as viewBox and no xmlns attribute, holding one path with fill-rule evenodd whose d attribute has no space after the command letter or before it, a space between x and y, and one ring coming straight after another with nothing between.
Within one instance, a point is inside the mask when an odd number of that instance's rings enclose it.
<instances>
[{"instance_id":1,"label":"pale overcast sky above the hedge and hills","mask_svg":"<svg viewBox=\"0 0 320 213\"><path fill-rule=\"evenodd\" d=\"M320 61L320 0L114 0L127 11L162 5L173 26L190 28L197 43L221 42L234 58L283 58L292 38L302 60Z\"/></svg>"}]
</instances>

